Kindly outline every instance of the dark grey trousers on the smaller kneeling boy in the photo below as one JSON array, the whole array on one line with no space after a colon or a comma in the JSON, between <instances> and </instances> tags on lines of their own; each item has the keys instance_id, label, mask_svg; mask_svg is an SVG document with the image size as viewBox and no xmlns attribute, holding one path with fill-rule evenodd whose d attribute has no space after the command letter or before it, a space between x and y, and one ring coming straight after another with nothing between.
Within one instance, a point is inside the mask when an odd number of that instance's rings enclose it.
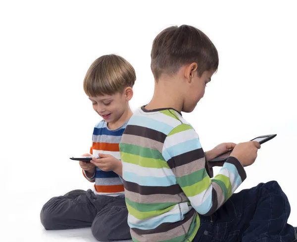
<instances>
[{"instance_id":1,"label":"dark grey trousers on the smaller kneeling boy","mask_svg":"<svg viewBox=\"0 0 297 242\"><path fill-rule=\"evenodd\" d=\"M40 219L47 230L91 227L102 242L131 240L125 196L95 195L92 190L74 190L49 199Z\"/></svg>"}]
</instances>

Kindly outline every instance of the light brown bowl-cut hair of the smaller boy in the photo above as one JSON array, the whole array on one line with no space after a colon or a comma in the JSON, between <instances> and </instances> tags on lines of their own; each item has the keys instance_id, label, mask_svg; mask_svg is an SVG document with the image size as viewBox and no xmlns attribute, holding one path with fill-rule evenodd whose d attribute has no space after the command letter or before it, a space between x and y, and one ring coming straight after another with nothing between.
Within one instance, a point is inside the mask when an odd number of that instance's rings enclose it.
<instances>
[{"instance_id":1,"label":"light brown bowl-cut hair of the smaller boy","mask_svg":"<svg viewBox=\"0 0 297 242\"><path fill-rule=\"evenodd\" d=\"M133 87L136 73L133 66L116 54L96 59L84 79L84 91L89 97L112 95Z\"/></svg>"}]
</instances>

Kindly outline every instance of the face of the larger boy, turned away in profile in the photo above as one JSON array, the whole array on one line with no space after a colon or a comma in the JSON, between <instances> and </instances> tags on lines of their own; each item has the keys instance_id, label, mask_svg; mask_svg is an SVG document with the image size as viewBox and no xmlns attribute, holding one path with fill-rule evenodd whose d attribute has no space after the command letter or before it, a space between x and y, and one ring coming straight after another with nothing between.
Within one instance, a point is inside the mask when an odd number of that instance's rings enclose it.
<instances>
[{"instance_id":1,"label":"face of the larger boy, turned away in profile","mask_svg":"<svg viewBox=\"0 0 297 242\"><path fill-rule=\"evenodd\" d=\"M213 73L214 71L204 71L199 77L197 70L192 71L191 82L185 87L183 112L192 112L195 109L198 101L204 96L206 84L210 82Z\"/></svg>"}]
</instances>

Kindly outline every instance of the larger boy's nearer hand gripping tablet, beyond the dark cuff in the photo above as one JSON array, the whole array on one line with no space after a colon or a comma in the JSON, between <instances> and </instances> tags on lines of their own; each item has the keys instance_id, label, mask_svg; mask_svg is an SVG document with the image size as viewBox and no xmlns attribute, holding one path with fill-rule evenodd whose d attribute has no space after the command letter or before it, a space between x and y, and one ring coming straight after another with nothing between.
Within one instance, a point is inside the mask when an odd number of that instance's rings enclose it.
<instances>
[{"instance_id":1,"label":"larger boy's nearer hand gripping tablet, beyond the dark cuff","mask_svg":"<svg viewBox=\"0 0 297 242\"><path fill-rule=\"evenodd\" d=\"M257 158L259 148L261 148L261 145L255 141L240 143L234 147L230 156L237 158L244 167L249 166Z\"/></svg>"}]
</instances>

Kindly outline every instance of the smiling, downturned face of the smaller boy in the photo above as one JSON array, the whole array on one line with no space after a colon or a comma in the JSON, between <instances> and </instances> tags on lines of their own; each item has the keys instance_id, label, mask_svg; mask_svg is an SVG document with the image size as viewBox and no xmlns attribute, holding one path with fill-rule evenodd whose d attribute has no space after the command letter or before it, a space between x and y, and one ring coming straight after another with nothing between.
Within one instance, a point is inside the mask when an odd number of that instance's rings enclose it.
<instances>
[{"instance_id":1,"label":"smiling, downturned face of the smaller boy","mask_svg":"<svg viewBox=\"0 0 297 242\"><path fill-rule=\"evenodd\" d=\"M132 88L126 88L123 93L89 97L94 110L107 122L116 123L129 107L132 98Z\"/></svg>"}]
</instances>

